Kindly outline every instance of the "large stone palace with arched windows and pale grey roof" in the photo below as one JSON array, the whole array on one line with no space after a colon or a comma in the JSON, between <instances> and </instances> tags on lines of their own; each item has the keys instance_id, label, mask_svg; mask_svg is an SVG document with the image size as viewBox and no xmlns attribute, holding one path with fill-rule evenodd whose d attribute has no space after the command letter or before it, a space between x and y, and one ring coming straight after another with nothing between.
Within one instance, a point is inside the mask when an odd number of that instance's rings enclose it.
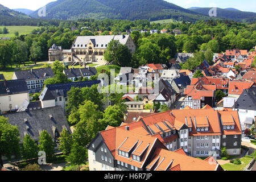
<instances>
[{"instance_id":1,"label":"large stone palace with arched windows and pale grey roof","mask_svg":"<svg viewBox=\"0 0 256 182\"><path fill-rule=\"evenodd\" d=\"M77 36L71 49L62 49L60 46L53 44L48 51L49 61L105 63L104 52L111 40L119 40L132 53L136 50L136 46L130 35Z\"/></svg>"}]
</instances>

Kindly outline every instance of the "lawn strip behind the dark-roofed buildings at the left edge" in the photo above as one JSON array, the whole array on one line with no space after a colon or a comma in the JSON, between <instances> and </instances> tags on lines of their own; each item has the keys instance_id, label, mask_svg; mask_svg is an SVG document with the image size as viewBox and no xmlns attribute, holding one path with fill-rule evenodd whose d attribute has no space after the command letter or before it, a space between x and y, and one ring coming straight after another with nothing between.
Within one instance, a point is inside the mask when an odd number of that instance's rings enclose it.
<instances>
[{"instance_id":1,"label":"lawn strip behind the dark-roofed buildings at the left edge","mask_svg":"<svg viewBox=\"0 0 256 182\"><path fill-rule=\"evenodd\" d=\"M7 67L5 69L0 69L0 74L3 74L6 80L12 80L14 71L47 68L47 67L51 67L51 64L48 64L48 62L38 62L35 65L34 62L27 62L25 67L24 67L24 64L20 65L20 67L21 68L18 68L18 64L14 64L13 68Z\"/></svg>"}]
</instances>

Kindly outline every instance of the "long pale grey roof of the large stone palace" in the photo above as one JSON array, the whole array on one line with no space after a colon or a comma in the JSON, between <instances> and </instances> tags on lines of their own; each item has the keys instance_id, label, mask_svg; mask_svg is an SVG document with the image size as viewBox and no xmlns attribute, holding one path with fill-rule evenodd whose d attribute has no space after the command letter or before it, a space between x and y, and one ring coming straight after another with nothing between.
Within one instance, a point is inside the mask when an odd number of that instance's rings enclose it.
<instances>
[{"instance_id":1,"label":"long pale grey roof of the large stone palace","mask_svg":"<svg viewBox=\"0 0 256 182\"><path fill-rule=\"evenodd\" d=\"M89 41L92 41L94 48L106 48L111 40L119 40L121 44L126 44L128 38L129 35L77 36L72 48L86 48Z\"/></svg>"}]
</instances>

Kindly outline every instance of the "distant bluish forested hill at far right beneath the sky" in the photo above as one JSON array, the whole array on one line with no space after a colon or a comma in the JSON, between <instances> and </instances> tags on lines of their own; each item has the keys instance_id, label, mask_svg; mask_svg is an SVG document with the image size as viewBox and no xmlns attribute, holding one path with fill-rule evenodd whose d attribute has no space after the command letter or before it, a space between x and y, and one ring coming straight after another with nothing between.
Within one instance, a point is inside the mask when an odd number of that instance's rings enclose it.
<instances>
[{"instance_id":1,"label":"distant bluish forested hill at far right beneath the sky","mask_svg":"<svg viewBox=\"0 0 256 182\"><path fill-rule=\"evenodd\" d=\"M208 15L210 8L209 7L201 7L201 8L193 7L189 10L195 11L196 13ZM240 22L255 22L256 21L256 13L245 12L245 11L240 11L240 10L236 10L236 9L217 8L217 17L237 20Z\"/></svg>"}]
</instances>

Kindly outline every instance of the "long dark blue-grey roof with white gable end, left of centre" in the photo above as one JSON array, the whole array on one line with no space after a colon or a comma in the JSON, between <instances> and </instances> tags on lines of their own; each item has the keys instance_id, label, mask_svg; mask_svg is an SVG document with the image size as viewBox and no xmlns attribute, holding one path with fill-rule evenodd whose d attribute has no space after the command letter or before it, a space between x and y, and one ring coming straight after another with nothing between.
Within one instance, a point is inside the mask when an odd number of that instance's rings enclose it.
<instances>
[{"instance_id":1,"label":"long dark blue-grey roof with white gable end, left of centre","mask_svg":"<svg viewBox=\"0 0 256 182\"><path fill-rule=\"evenodd\" d=\"M64 96L67 97L67 92L72 87L90 87L92 85L99 84L100 80L91 80L91 81L78 81L78 82L69 82L64 84L52 84L46 85L43 92L39 96L40 100L48 101L48 100L55 100L55 97Z\"/></svg>"}]
</instances>

